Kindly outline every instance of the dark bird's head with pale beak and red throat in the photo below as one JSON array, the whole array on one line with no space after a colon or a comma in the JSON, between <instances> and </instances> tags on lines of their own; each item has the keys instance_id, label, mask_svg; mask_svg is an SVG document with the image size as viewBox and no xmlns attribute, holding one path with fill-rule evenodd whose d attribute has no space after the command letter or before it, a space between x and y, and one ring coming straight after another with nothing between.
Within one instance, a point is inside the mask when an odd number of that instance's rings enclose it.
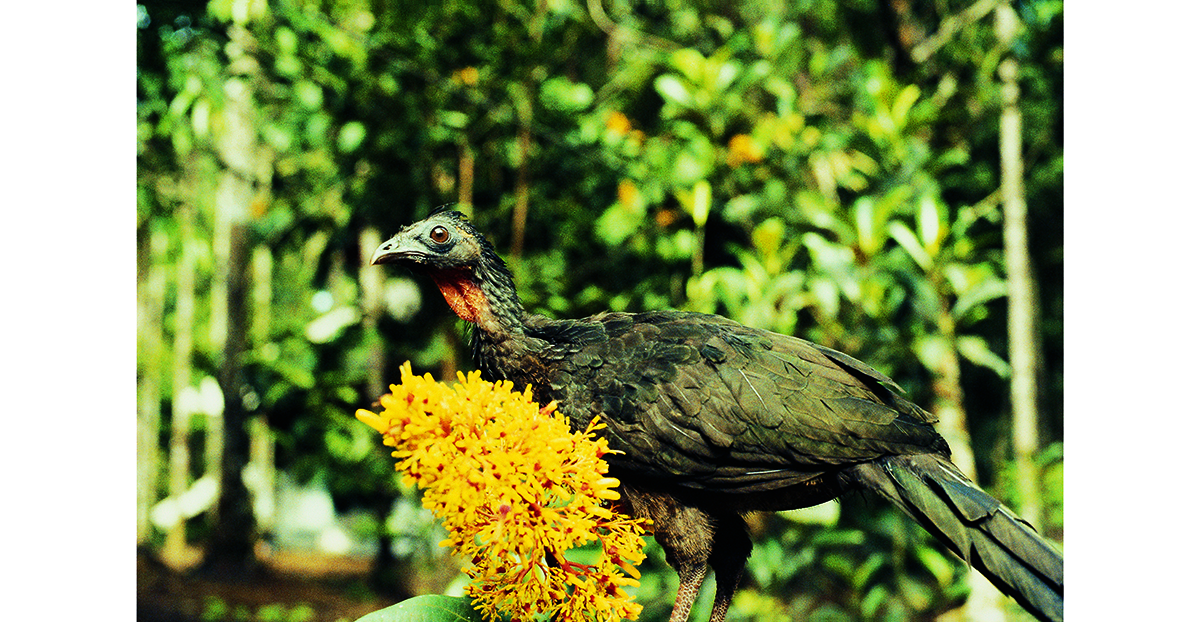
<instances>
[{"instance_id":1,"label":"dark bird's head with pale beak and red throat","mask_svg":"<svg viewBox=\"0 0 1200 622\"><path fill-rule=\"evenodd\" d=\"M485 331L514 330L523 315L512 274L457 211L439 211L400 229L379 245L371 263L400 263L428 274L450 309Z\"/></svg>"}]
</instances>

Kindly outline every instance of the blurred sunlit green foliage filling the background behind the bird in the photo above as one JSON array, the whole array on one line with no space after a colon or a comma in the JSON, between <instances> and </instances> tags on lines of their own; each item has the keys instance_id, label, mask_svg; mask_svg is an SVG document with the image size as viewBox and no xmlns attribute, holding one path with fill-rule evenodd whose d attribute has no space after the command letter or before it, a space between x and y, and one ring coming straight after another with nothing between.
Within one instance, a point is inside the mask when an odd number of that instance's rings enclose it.
<instances>
[{"instance_id":1,"label":"blurred sunlit green foliage filling the background behind the bird","mask_svg":"<svg viewBox=\"0 0 1200 622\"><path fill-rule=\"evenodd\" d=\"M439 560L437 527L352 413L378 397L372 366L394 378L409 359L436 373L472 365L437 291L406 274L386 275L386 313L364 324L360 233L463 197L535 312L722 313L863 358L924 405L946 357L961 359L979 477L1004 497L995 70L1012 54L1040 304L1043 520L1061 538L1062 2L1018 2L1010 49L986 17L914 60L970 5L139 5L139 258L155 239L168 262L185 244L198 252L196 325L174 324L169 280L163 336L194 331L193 382L216 375L215 142L241 83L260 162L252 244L270 257L271 295L238 390L270 421L280 468L323 478L340 508L383 516L401 500L406 519L377 528L415 567ZM168 363L139 357L139 373L150 364ZM160 397L169 412L169 389ZM907 519L853 497L832 507L755 522L731 620L925 620L961 603L964 566ZM643 618L658 620L673 573L661 552L643 573Z\"/></svg>"}]
</instances>

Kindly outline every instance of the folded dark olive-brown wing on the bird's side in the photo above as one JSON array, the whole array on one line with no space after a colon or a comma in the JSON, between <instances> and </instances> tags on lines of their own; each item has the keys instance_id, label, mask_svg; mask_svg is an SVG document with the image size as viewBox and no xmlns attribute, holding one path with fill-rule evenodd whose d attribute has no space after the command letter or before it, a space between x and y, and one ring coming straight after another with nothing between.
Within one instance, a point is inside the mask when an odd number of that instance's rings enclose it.
<instances>
[{"instance_id":1,"label":"folded dark olive-brown wing on the bird's side","mask_svg":"<svg viewBox=\"0 0 1200 622\"><path fill-rule=\"evenodd\" d=\"M618 460L647 476L763 491L944 450L932 415L839 352L700 313L606 315L592 327L563 352L554 397L576 420L601 415Z\"/></svg>"}]
</instances>

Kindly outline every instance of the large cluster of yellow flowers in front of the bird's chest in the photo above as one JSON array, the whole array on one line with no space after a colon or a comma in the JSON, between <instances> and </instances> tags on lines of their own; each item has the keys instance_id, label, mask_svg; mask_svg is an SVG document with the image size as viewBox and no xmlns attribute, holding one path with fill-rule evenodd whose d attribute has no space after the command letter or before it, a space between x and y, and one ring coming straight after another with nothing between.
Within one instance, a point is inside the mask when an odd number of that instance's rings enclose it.
<instances>
[{"instance_id":1,"label":"large cluster of yellow flowers in front of the bird's chest","mask_svg":"<svg viewBox=\"0 0 1200 622\"><path fill-rule=\"evenodd\" d=\"M637 585L644 528L608 507L620 483L606 477L602 424L572 432L553 402L539 407L528 388L515 393L478 371L450 388L406 363L391 391L383 413L356 417L396 448L406 482L425 489L425 507L449 532L442 544L473 564L464 572L476 609L493 621L637 617L624 587ZM568 557L592 542L595 563Z\"/></svg>"}]
</instances>

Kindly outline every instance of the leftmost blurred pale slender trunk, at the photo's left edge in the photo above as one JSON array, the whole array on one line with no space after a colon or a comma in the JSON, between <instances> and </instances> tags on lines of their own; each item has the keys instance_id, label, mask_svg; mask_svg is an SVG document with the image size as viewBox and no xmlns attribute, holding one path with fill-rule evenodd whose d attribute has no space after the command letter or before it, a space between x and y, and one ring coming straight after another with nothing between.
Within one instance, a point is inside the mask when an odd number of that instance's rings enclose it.
<instances>
[{"instance_id":1,"label":"leftmost blurred pale slender trunk, at the photo's left edge","mask_svg":"<svg viewBox=\"0 0 1200 622\"><path fill-rule=\"evenodd\" d=\"M162 425L162 315L167 293L167 234L151 226L139 253L138 297L138 544L150 538L150 507L158 496L158 429Z\"/></svg>"}]
</instances>

